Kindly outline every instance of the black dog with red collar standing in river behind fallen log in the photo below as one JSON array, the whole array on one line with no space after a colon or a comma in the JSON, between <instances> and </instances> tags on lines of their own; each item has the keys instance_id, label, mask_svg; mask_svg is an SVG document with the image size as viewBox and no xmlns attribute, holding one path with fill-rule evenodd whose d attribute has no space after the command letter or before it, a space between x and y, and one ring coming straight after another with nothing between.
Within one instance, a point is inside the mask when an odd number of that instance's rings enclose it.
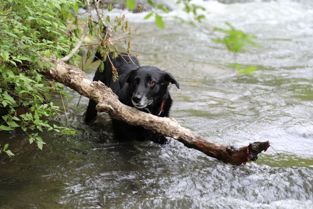
<instances>
[{"instance_id":1,"label":"black dog with red collar standing in river behind fallen log","mask_svg":"<svg viewBox=\"0 0 313 209\"><path fill-rule=\"evenodd\" d=\"M119 97L119 100L131 107L157 115L168 117L172 106L172 98L168 92L169 83L175 84L179 88L175 78L167 72L153 66L141 66L136 58L126 54L120 54L117 58L112 58L112 53L105 60L105 69L101 73L99 67L95 72L94 81L101 81ZM117 69L118 82L112 81L112 65ZM89 101L85 122L95 120L97 111L96 102ZM115 137L121 140L152 140L159 144L166 144L167 139L151 130L141 126L131 126L127 123L113 120Z\"/></svg>"}]
</instances>

